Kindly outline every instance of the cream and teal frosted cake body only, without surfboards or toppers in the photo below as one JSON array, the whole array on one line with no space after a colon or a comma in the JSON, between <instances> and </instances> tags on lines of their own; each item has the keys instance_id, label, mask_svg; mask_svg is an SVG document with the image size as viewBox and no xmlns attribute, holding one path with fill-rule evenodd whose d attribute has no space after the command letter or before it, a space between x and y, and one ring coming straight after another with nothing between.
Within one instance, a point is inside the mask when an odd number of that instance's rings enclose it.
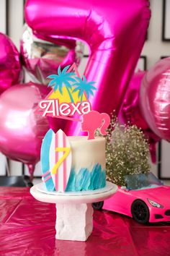
<instances>
[{"instance_id":1,"label":"cream and teal frosted cake body only, without surfboards or toppers","mask_svg":"<svg viewBox=\"0 0 170 256\"><path fill-rule=\"evenodd\" d=\"M68 137L72 164L66 191L94 190L105 187L105 140L95 137Z\"/></svg>"}]
</instances>

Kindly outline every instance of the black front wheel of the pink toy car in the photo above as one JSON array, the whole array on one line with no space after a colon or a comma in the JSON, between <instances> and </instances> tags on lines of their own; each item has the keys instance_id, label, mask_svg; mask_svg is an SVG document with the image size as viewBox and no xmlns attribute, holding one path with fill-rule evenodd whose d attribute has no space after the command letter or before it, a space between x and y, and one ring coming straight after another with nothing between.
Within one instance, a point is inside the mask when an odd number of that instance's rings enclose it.
<instances>
[{"instance_id":1,"label":"black front wheel of the pink toy car","mask_svg":"<svg viewBox=\"0 0 170 256\"><path fill-rule=\"evenodd\" d=\"M146 224L149 221L148 206L142 200L135 200L131 208L132 216L138 223Z\"/></svg>"}]
</instances>

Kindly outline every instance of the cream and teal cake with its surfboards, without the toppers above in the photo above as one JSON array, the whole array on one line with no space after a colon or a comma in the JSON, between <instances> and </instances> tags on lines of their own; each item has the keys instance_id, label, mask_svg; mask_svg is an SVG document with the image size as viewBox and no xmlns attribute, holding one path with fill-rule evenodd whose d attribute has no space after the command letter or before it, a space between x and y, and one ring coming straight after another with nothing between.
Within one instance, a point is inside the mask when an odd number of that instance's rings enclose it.
<instances>
[{"instance_id":1,"label":"cream and teal cake with its surfboards, without the toppers above","mask_svg":"<svg viewBox=\"0 0 170 256\"><path fill-rule=\"evenodd\" d=\"M62 151L55 150L57 147ZM64 154L66 158L60 161ZM105 187L105 140L66 137L61 129L56 134L50 129L42 142L41 170L48 191L79 192Z\"/></svg>"}]
</instances>

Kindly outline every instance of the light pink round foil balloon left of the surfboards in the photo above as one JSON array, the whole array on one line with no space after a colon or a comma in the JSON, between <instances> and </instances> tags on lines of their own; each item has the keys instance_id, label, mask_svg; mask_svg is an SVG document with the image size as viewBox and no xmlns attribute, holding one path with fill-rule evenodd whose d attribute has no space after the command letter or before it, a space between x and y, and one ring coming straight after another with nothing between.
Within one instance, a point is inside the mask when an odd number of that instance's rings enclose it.
<instances>
[{"instance_id":1,"label":"light pink round foil balloon left of the surfboards","mask_svg":"<svg viewBox=\"0 0 170 256\"><path fill-rule=\"evenodd\" d=\"M8 158L33 166L40 160L42 138L49 125L35 109L49 92L44 85L28 82L1 94L0 151Z\"/></svg>"}]
</instances>

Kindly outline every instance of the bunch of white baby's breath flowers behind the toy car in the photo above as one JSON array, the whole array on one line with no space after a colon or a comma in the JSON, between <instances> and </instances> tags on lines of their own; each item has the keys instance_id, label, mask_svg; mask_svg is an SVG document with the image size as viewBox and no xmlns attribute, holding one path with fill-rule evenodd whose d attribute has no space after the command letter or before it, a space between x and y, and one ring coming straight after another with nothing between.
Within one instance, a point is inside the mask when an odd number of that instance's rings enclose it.
<instances>
[{"instance_id":1,"label":"bunch of white baby's breath flowers behind the toy car","mask_svg":"<svg viewBox=\"0 0 170 256\"><path fill-rule=\"evenodd\" d=\"M97 136L99 131L97 131ZM120 125L113 112L106 135L107 179L117 185L125 185L125 175L146 174L148 163L148 141L141 129L135 125Z\"/></svg>"}]
</instances>

